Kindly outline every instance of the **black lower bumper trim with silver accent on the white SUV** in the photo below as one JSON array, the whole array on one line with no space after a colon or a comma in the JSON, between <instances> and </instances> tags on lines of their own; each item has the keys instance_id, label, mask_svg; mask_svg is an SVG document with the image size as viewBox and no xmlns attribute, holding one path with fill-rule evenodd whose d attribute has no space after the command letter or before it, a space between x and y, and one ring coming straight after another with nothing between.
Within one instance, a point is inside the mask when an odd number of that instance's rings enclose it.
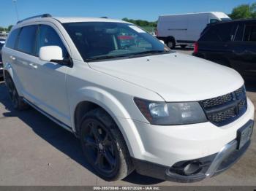
<instances>
[{"instance_id":1,"label":"black lower bumper trim with silver accent on the white SUV","mask_svg":"<svg viewBox=\"0 0 256 191\"><path fill-rule=\"evenodd\" d=\"M249 145L250 140L244 144L244 147L237 149L238 141L233 140L226 144L225 147L223 147L218 153L214 155L190 160L199 161L202 165L202 168L200 168L200 171L198 171L196 174L189 176L180 174L178 172L178 166L188 164L189 161L178 162L172 167L167 167L156 163L149 163L147 161L138 160L135 158L133 158L133 163L135 164L136 171L142 175L155 177L157 179L165 179L172 182L198 182L205 179L206 177L220 174L222 171L230 168L242 155L244 155Z\"/></svg>"}]
</instances>

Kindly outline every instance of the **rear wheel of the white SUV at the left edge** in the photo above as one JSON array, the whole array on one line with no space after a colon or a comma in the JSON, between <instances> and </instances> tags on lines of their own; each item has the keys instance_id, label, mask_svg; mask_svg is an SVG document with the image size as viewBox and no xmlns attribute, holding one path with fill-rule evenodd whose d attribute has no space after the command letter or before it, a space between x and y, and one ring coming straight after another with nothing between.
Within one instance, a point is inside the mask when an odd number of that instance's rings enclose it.
<instances>
[{"instance_id":1,"label":"rear wheel of the white SUV at the left edge","mask_svg":"<svg viewBox=\"0 0 256 191\"><path fill-rule=\"evenodd\" d=\"M20 95L18 95L18 91L15 87L14 82L12 81L12 78L10 77L10 74L6 73L4 80L14 109L20 111L24 109L29 109L29 105L23 101L23 98L20 97Z\"/></svg>"}]
</instances>

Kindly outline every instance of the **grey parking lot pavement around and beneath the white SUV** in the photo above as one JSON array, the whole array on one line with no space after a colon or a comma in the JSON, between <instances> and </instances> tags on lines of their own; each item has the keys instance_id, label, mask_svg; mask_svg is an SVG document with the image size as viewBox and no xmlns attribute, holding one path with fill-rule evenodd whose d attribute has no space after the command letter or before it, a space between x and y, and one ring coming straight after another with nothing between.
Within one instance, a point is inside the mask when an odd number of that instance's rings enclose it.
<instances>
[{"instance_id":1,"label":"grey parking lot pavement around and beneath the white SUV","mask_svg":"<svg viewBox=\"0 0 256 191\"><path fill-rule=\"evenodd\" d=\"M192 48L178 52L191 54ZM246 82L256 105L256 83ZM256 185L256 133L248 151L232 168L202 182L165 182L132 173L117 182L105 182L83 159L78 139L34 109L12 109L0 82L0 185Z\"/></svg>"}]
</instances>

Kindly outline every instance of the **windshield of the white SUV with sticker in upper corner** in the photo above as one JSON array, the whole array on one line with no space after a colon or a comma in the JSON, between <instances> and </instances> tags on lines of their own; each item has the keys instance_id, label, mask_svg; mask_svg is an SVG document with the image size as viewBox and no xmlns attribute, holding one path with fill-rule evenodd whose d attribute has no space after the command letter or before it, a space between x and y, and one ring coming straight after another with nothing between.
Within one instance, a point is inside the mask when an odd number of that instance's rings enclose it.
<instances>
[{"instance_id":1,"label":"windshield of the white SUV with sticker in upper corner","mask_svg":"<svg viewBox=\"0 0 256 191\"><path fill-rule=\"evenodd\" d=\"M64 23L84 61L171 52L154 36L128 23Z\"/></svg>"}]
</instances>

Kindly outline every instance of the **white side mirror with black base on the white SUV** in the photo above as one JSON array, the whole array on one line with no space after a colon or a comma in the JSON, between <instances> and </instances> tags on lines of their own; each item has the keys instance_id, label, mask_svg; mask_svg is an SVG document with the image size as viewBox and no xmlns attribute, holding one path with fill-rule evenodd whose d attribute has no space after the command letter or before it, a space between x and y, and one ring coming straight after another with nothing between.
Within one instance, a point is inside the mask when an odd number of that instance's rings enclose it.
<instances>
[{"instance_id":1,"label":"white side mirror with black base on the white SUV","mask_svg":"<svg viewBox=\"0 0 256 191\"><path fill-rule=\"evenodd\" d=\"M70 58L63 58L61 47L58 46L40 47L39 59L42 61L72 66L72 60Z\"/></svg>"}]
</instances>

